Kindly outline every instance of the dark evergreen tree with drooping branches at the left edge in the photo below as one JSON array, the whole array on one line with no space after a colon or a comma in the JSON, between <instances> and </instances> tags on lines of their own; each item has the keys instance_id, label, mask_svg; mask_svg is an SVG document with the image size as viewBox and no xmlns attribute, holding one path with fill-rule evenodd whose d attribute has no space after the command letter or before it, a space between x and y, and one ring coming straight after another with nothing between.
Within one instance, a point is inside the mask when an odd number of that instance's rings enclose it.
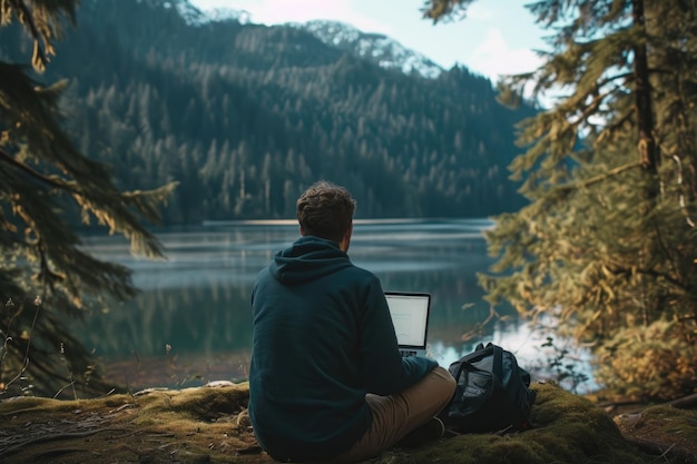
<instances>
[{"instance_id":1,"label":"dark evergreen tree with drooping branches at the left edge","mask_svg":"<svg viewBox=\"0 0 697 464\"><path fill-rule=\"evenodd\" d=\"M19 21L43 71L61 28L75 24L78 0L1 0L0 23ZM89 353L67 320L108 298L135 295L130 270L96 259L69 224L81 218L127 237L131 250L161 257L144 221L174 184L120 191L109 169L76 149L58 110L65 82L46 87L31 69L0 62L0 394L78 389L105 393Z\"/></svg>"}]
</instances>

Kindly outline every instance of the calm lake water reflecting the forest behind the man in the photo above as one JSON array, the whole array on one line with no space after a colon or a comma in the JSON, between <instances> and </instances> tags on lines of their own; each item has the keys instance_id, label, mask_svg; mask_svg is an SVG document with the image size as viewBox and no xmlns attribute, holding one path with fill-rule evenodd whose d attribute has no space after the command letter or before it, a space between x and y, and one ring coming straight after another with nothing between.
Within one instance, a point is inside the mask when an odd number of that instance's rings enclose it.
<instances>
[{"instance_id":1,"label":"calm lake water reflecting the forest behind the man","mask_svg":"<svg viewBox=\"0 0 697 464\"><path fill-rule=\"evenodd\" d=\"M356 221L348 255L372 270L385 290L432 294L430 352L449 365L479 342L540 363L543 337L514 316L490 324L467 342L489 315L477 273L491 264L485 219ZM86 346L108 361L111 375L141 386L181 386L246 375L252 346L249 292L272 256L298 237L296 223L244 221L158 234L167 260L134 258L119 237L86 238L97 256L134 269L141 294L91 314L76 328Z\"/></svg>"}]
</instances>

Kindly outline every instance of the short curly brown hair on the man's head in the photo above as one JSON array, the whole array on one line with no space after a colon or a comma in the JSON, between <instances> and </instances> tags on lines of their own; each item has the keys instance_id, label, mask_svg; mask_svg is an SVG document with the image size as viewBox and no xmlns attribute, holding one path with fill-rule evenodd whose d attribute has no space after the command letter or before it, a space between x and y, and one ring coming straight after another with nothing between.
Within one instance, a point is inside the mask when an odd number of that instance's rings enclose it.
<instances>
[{"instance_id":1,"label":"short curly brown hair on the man's head","mask_svg":"<svg viewBox=\"0 0 697 464\"><path fill-rule=\"evenodd\" d=\"M297 199L297 221L305 235L340 243L351 227L355 204L348 190L321 180Z\"/></svg>"}]
</instances>

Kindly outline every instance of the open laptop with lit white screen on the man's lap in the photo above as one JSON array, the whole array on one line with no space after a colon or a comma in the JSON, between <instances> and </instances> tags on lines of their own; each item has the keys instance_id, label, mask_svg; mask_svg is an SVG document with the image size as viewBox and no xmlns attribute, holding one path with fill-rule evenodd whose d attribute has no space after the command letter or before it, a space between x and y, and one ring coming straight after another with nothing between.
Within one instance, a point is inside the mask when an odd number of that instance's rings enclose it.
<instances>
[{"instance_id":1,"label":"open laptop with lit white screen on the man's lap","mask_svg":"<svg viewBox=\"0 0 697 464\"><path fill-rule=\"evenodd\" d=\"M413 292L385 292L385 298L402 356L425 356L431 295Z\"/></svg>"}]
</instances>

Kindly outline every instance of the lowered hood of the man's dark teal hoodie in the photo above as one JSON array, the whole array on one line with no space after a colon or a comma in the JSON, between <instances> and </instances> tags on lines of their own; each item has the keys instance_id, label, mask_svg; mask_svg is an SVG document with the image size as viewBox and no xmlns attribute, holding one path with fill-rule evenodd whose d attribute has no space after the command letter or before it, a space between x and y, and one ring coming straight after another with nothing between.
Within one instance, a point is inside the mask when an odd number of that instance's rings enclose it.
<instances>
[{"instance_id":1,"label":"lowered hood of the man's dark teal hoodie","mask_svg":"<svg viewBox=\"0 0 697 464\"><path fill-rule=\"evenodd\" d=\"M276 280L298 285L350 266L353 265L348 255L335 241L304 236L289 248L278 251L268 269Z\"/></svg>"}]
</instances>

